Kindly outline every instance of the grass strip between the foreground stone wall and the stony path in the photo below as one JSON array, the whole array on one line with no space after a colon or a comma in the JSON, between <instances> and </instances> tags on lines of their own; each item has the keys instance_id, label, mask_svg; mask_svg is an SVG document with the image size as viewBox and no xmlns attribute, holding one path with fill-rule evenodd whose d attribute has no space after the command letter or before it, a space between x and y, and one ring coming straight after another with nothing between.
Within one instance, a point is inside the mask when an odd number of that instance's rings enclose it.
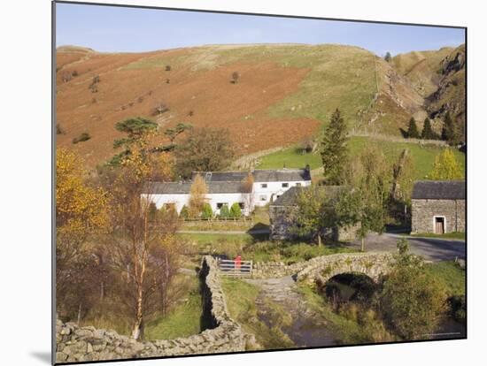
<instances>
[{"instance_id":1,"label":"grass strip between the foreground stone wall and the stony path","mask_svg":"<svg viewBox=\"0 0 487 366\"><path fill-rule=\"evenodd\" d=\"M221 285L230 316L242 325L244 332L255 335L260 347L279 349L294 346L281 329L289 325L290 315L279 305L267 303L268 324L260 320L261 314L256 307L259 287L234 278L222 278Z\"/></svg>"}]
</instances>

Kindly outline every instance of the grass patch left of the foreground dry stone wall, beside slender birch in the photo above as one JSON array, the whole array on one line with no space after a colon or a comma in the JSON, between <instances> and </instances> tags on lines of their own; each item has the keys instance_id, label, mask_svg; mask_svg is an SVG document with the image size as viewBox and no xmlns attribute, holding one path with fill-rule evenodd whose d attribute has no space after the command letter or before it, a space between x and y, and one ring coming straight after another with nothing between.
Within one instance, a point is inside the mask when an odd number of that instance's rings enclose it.
<instances>
[{"instance_id":1,"label":"grass patch left of the foreground dry stone wall, beside slender birch","mask_svg":"<svg viewBox=\"0 0 487 366\"><path fill-rule=\"evenodd\" d=\"M187 295L175 304L167 316L158 316L145 327L145 339L175 339L201 332L201 294L196 276L180 276L179 286L186 286Z\"/></svg>"}]
</instances>

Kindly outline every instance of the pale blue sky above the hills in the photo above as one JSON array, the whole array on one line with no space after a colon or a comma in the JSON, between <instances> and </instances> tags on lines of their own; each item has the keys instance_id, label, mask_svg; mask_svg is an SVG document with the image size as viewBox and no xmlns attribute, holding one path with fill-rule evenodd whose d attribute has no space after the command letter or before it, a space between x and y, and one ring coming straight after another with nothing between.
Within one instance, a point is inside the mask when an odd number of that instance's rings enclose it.
<instances>
[{"instance_id":1,"label":"pale blue sky above the hills","mask_svg":"<svg viewBox=\"0 0 487 366\"><path fill-rule=\"evenodd\" d=\"M398 26L86 4L56 4L56 46L101 52L167 50L228 43L339 43L378 56L438 50L465 42L449 27Z\"/></svg>"}]
</instances>

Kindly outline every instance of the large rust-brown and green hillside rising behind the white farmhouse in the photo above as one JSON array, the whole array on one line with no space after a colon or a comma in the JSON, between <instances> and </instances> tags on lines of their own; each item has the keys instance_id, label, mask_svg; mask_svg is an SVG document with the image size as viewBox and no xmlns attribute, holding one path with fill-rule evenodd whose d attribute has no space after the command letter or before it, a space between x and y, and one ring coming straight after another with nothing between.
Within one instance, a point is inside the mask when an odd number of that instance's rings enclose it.
<instances>
[{"instance_id":1,"label":"large rust-brown and green hillside rising behind the white farmhouse","mask_svg":"<svg viewBox=\"0 0 487 366\"><path fill-rule=\"evenodd\" d=\"M57 51L58 146L79 150L94 166L114 153L112 141L120 137L114 124L142 116L162 128L179 122L226 127L238 155L246 155L318 133L336 108L352 133L400 135L412 115L421 120L427 112L425 94L406 75L406 61L396 64L336 44L211 45L146 53L66 46ZM230 82L233 72L240 75L236 83ZM90 87L96 76L99 82ZM167 111L153 116L160 104ZM85 132L89 141L72 143Z\"/></svg>"}]
</instances>

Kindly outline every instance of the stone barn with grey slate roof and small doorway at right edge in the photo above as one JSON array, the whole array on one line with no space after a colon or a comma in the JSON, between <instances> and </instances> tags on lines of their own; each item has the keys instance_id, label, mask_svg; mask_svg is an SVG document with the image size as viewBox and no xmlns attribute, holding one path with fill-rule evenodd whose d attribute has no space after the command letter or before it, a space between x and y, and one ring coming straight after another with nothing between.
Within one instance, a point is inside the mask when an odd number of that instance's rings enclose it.
<instances>
[{"instance_id":1,"label":"stone barn with grey slate roof and small doorway at right edge","mask_svg":"<svg viewBox=\"0 0 487 366\"><path fill-rule=\"evenodd\" d=\"M465 180L417 181L411 198L411 233L465 232Z\"/></svg>"}]
</instances>

